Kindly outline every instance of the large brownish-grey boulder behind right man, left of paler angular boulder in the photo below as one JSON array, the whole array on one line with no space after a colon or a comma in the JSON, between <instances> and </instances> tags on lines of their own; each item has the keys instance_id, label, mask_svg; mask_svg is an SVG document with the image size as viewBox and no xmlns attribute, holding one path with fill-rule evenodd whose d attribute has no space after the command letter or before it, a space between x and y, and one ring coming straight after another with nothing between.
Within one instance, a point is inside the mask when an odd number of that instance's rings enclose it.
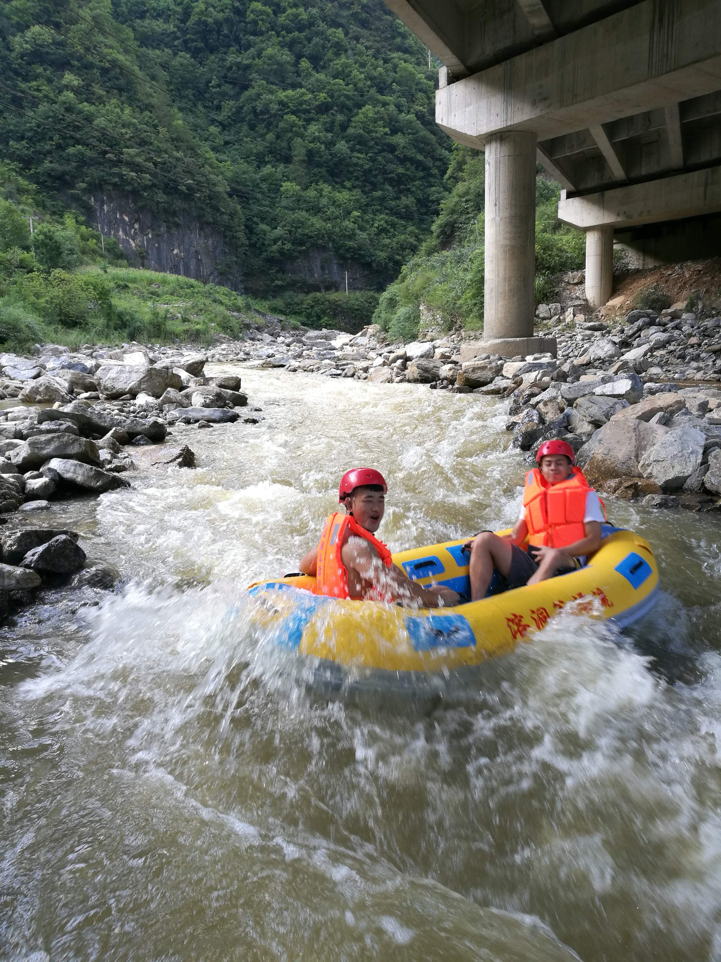
<instances>
[{"instance_id":1,"label":"large brownish-grey boulder behind right man, left of paler angular boulder","mask_svg":"<svg viewBox=\"0 0 721 962\"><path fill-rule=\"evenodd\" d=\"M660 424L628 418L609 420L579 451L577 464L591 484L617 477L642 477L638 461L668 433Z\"/></svg>"}]
</instances>

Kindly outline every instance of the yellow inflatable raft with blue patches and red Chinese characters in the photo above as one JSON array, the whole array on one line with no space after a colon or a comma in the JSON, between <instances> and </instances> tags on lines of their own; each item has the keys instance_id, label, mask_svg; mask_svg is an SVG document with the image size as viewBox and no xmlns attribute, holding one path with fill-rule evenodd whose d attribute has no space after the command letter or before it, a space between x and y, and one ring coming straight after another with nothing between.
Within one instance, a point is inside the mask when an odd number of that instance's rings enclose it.
<instances>
[{"instance_id":1,"label":"yellow inflatable raft with blue patches and red Chinese characters","mask_svg":"<svg viewBox=\"0 0 721 962\"><path fill-rule=\"evenodd\" d=\"M322 597L311 593L315 579L306 575L258 582L248 592L261 602L258 617L284 648L343 668L456 670L506 654L564 608L621 628L646 614L659 589L650 544L608 524L603 535L601 547L580 570L455 608L412 610ZM468 597L468 556L462 544L399 551L393 562L421 585L447 585Z\"/></svg>"}]
</instances>

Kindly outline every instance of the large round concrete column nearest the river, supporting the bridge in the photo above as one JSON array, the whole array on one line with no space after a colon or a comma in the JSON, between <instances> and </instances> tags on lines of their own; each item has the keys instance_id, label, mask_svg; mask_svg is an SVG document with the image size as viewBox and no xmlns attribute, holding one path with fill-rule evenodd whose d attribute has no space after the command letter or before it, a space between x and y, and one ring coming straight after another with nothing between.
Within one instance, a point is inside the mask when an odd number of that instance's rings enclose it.
<instances>
[{"instance_id":1,"label":"large round concrete column nearest the river, supporting the bridge","mask_svg":"<svg viewBox=\"0 0 721 962\"><path fill-rule=\"evenodd\" d=\"M534 248L535 134L494 134L485 141L485 342L533 338ZM518 346L512 354L528 353Z\"/></svg>"}]
</instances>

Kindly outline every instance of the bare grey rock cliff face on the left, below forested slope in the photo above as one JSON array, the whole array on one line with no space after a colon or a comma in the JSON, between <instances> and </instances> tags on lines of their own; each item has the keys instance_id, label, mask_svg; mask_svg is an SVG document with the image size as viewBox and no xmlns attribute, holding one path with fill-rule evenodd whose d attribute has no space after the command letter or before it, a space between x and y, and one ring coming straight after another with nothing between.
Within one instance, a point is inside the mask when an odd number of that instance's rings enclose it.
<instances>
[{"instance_id":1,"label":"bare grey rock cliff face on the left, below forested slope","mask_svg":"<svg viewBox=\"0 0 721 962\"><path fill-rule=\"evenodd\" d=\"M185 214L166 224L138 210L130 197L97 194L92 203L100 231L120 244L134 266L243 291L236 251L217 228Z\"/></svg>"}]
</instances>

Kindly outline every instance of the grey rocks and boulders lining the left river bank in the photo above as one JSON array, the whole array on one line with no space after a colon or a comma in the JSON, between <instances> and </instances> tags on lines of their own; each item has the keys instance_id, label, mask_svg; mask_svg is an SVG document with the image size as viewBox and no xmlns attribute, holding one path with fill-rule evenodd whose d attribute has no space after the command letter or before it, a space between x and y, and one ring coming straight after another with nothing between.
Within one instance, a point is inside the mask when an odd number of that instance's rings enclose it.
<instances>
[{"instance_id":1,"label":"grey rocks and boulders lining the left river bank","mask_svg":"<svg viewBox=\"0 0 721 962\"><path fill-rule=\"evenodd\" d=\"M59 578L112 587L116 574L87 563L71 531L22 526L51 500L129 487L133 450L162 443L177 422L211 427L257 423L236 375L208 378L205 354L142 345L70 353L46 345L33 358L0 354L0 620ZM17 405L8 404L16 398ZM159 468L194 468L186 445L162 448Z\"/></svg>"}]
</instances>

